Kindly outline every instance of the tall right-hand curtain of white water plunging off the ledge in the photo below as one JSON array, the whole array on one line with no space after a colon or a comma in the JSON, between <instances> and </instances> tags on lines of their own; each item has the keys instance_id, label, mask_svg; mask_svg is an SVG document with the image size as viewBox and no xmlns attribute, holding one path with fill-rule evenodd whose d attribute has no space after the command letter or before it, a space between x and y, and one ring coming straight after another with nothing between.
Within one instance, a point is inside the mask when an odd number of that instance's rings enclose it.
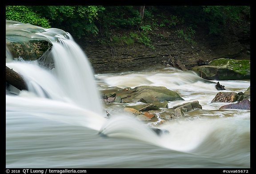
<instances>
[{"instance_id":1,"label":"tall right-hand curtain of white water plunging off the ledge","mask_svg":"<svg viewBox=\"0 0 256 174\"><path fill-rule=\"evenodd\" d=\"M53 34L56 34L56 29ZM51 54L61 88L81 108L103 114L103 107L99 101L100 95L88 58L72 39L72 36L68 33L67 35L68 39L59 37L58 42L52 40Z\"/></svg>"}]
</instances>

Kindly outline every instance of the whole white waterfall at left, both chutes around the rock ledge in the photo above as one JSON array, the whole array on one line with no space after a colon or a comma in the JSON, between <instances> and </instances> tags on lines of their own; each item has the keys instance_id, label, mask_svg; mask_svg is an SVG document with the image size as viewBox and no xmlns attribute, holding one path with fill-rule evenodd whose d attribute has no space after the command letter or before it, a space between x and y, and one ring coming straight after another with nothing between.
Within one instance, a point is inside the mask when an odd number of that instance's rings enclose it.
<instances>
[{"instance_id":1,"label":"whole white waterfall at left, both chutes around the rock ledge","mask_svg":"<svg viewBox=\"0 0 256 174\"><path fill-rule=\"evenodd\" d=\"M27 81L29 91L36 95L69 101L103 115L94 72L87 56L72 36L57 28L45 29L45 32L36 34L45 36L52 42L50 56L54 60L55 68L46 70L36 61L19 60L8 61L6 66L21 73ZM8 49L6 53L10 58Z\"/></svg>"}]
</instances>

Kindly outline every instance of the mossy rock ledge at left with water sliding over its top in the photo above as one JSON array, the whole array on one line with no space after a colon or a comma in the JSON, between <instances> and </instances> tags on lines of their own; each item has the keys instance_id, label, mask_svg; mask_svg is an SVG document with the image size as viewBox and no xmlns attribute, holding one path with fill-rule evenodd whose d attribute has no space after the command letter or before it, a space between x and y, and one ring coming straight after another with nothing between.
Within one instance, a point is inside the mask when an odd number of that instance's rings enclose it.
<instances>
[{"instance_id":1,"label":"mossy rock ledge at left with water sliding over its top","mask_svg":"<svg viewBox=\"0 0 256 174\"><path fill-rule=\"evenodd\" d=\"M38 62L49 68L53 64L49 54L52 50L52 42L45 36L40 35L46 31L43 27L38 27L30 23L20 23L6 20L5 43L6 61L13 58L22 58L26 61L38 60Z\"/></svg>"}]
</instances>

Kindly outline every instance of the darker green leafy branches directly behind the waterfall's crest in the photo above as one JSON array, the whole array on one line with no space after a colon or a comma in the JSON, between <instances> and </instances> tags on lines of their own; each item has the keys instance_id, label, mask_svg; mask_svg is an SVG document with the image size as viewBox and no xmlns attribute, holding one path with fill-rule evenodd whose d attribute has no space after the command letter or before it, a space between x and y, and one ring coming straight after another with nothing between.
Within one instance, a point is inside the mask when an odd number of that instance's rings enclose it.
<instances>
[{"instance_id":1,"label":"darker green leafy branches directly behind the waterfall's crest","mask_svg":"<svg viewBox=\"0 0 256 174\"><path fill-rule=\"evenodd\" d=\"M102 6L32 6L34 11L46 16L55 27L68 31L76 38L84 35L96 36L98 15Z\"/></svg>"}]
</instances>

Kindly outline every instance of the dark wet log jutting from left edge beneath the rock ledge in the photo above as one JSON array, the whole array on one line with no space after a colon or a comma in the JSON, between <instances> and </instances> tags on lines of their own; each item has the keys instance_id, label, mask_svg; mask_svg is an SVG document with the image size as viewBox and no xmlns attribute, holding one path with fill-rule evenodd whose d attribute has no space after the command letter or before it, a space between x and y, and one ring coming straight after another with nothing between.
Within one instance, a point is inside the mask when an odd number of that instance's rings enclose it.
<instances>
[{"instance_id":1,"label":"dark wet log jutting from left edge beneath the rock ledge","mask_svg":"<svg viewBox=\"0 0 256 174\"><path fill-rule=\"evenodd\" d=\"M5 80L17 89L28 90L28 86L24 81L23 77L19 73L16 73L14 70L8 68L7 66L5 66Z\"/></svg>"}]
</instances>

